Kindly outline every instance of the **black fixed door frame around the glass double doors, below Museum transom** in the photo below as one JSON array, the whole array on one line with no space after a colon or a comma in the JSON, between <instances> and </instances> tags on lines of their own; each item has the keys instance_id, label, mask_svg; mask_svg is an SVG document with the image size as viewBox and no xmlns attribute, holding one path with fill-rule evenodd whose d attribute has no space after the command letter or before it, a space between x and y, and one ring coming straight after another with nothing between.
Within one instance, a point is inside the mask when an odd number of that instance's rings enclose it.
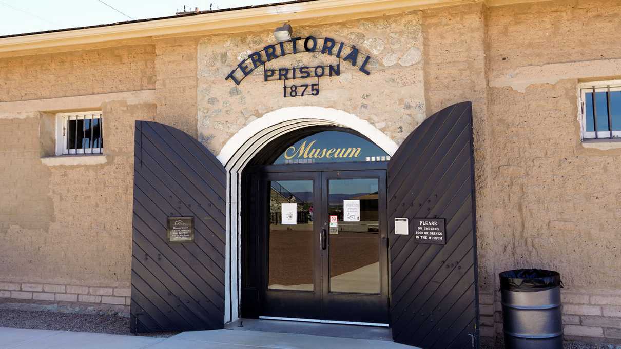
<instances>
[{"instance_id":1,"label":"black fixed door frame around the glass double doors, below Museum transom","mask_svg":"<svg viewBox=\"0 0 621 349\"><path fill-rule=\"evenodd\" d=\"M258 319L261 316L261 272L260 267L252 267L260 265L260 235L252 234L252 222L250 217L261 214L263 208L262 205L256 205L256 198L253 198L253 188L260 185L261 177L268 173L283 173L283 172L324 172L324 171L350 171L350 170L387 170L388 161L373 161L373 162L337 162L326 164L278 164L278 165L250 165L245 167L242 172L242 191L241 191L241 212L242 212L242 234L240 236L240 245L242 247L242 254L238 257L238 265L241 272L241 284L240 284L240 304L239 314L241 317ZM321 176L320 180L322 180ZM323 185L321 185L323 186ZM386 190L386 189L385 189ZM322 193L320 193L321 195ZM386 192L388 195L388 192ZM385 198L385 203L380 203L380 206L386 208L382 214L386 220L386 226L388 227L388 197ZM388 239L388 231L386 232ZM387 311L391 303L392 294L390 292L390 250L389 244L386 244L387 265L386 285L388 286L388 304ZM327 321L331 322L331 321ZM390 319L388 324L390 325Z\"/></svg>"}]
</instances>

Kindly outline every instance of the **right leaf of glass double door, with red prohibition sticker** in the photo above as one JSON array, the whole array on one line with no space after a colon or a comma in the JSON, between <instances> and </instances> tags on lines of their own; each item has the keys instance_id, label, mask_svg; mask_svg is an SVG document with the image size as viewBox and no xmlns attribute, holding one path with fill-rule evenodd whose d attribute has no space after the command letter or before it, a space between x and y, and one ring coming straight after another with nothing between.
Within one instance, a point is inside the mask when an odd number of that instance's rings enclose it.
<instances>
[{"instance_id":1,"label":"right leaf of glass double door, with red prohibition sticker","mask_svg":"<svg viewBox=\"0 0 621 349\"><path fill-rule=\"evenodd\" d=\"M387 325L386 171L322 172L320 206L327 231L323 318Z\"/></svg>"}]
</instances>

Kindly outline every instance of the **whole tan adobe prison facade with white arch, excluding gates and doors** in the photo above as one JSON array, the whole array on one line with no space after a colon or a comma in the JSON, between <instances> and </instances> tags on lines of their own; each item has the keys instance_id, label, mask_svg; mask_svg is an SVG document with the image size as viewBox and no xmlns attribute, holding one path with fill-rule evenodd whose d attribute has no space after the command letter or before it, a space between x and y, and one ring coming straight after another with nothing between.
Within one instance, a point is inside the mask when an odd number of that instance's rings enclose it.
<instances>
[{"instance_id":1,"label":"whole tan adobe prison facade with white arch, excluding gates and doors","mask_svg":"<svg viewBox=\"0 0 621 349\"><path fill-rule=\"evenodd\" d=\"M346 126L392 155L427 117L470 101L481 335L502 333L498 273L537 267L561 274L566 338L621 342L621 143L586 139L581 118L582 87L621 86L621 4L423 3L320 0L0 38L1 306L129 311L135 121L184 131L223 163L253 131L296 119ZM225 79L283 22L355 46L356 65L304 53ZM265 81L265 69L339 62L318 95ZM59 154L59 120L84 112L101 115L103 150ZM229 233L227 246L242 244ZM240 317L230 294L225 322Z\"/></svg>"}]
</instances>

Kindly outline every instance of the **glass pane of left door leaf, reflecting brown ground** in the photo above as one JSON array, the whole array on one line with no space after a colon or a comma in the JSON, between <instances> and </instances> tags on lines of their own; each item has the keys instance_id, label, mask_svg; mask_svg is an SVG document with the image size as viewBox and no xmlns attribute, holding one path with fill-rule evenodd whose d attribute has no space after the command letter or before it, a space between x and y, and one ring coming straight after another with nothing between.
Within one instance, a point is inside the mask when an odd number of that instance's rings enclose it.
<instances>
[{"instance_id":1,"label":"glass pane of left door leaf, reflecting brown ground","mask_svg":"<svg viewBox=\"0 0 621 349\"><path fill-rule=\"evenodd\" d=\"M269 289L314 289L312 180L270 181Z\"/></svg>"}]
</instances>

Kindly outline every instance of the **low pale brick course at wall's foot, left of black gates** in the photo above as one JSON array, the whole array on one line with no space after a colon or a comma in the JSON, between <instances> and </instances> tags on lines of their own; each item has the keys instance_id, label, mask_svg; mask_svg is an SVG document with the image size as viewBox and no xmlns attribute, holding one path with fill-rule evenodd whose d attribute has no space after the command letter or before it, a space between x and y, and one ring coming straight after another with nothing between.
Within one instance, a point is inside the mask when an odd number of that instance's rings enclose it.
<instances>
[{"instance_id":1,"label":"low pale brick course at wall's foot, left of black gates","mask_svg":"<svg viewBox=\"0 0 621 349\"><path fill-rule=\"evenodd\" d=\"M22 304L5 306L12 309L58 310L50 304L63 304L73 312L129 314L130 288L94 287L83 285L51 285L0 281L0 303ZM41 304L41 307L34 306ZM84 304L79 306L78 304Z\"/></svg>"}]
</instances>

